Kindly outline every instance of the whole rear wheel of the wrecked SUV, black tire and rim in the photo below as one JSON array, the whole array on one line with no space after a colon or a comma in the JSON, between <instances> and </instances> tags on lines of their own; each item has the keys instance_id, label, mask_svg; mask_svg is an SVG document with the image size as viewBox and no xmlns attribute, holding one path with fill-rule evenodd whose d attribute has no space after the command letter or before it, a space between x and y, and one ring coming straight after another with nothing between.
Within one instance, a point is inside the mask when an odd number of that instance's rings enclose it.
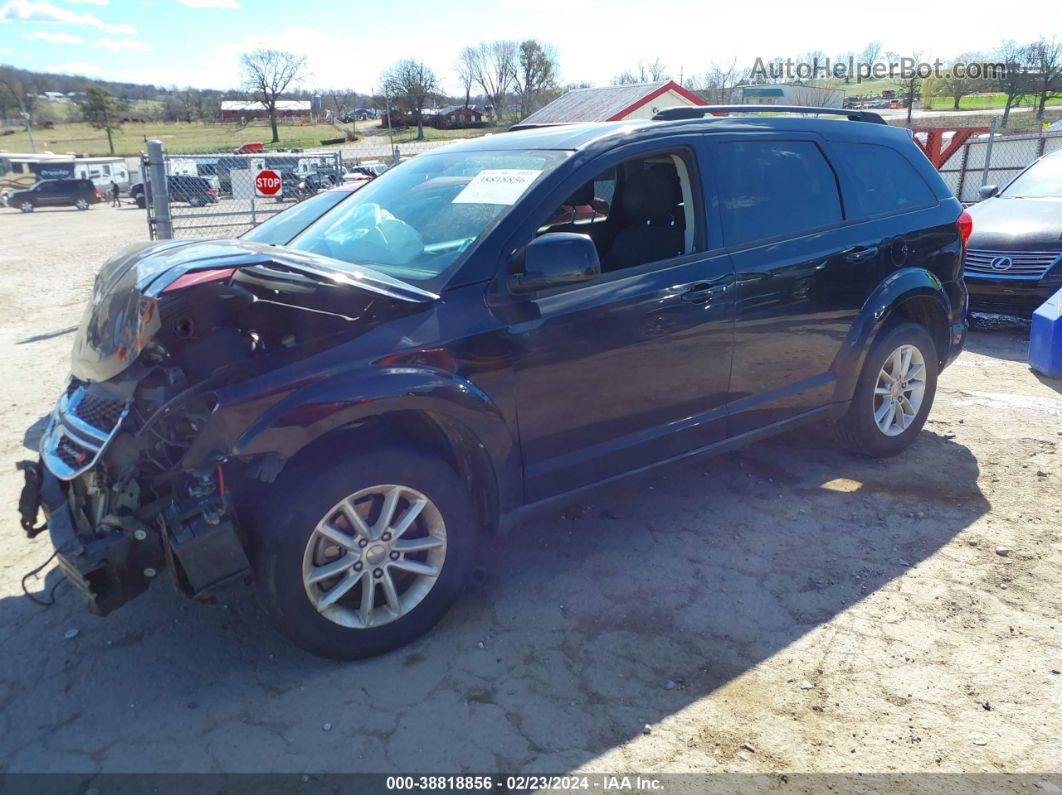
<instances>
[{"instance_id":1,"label":"whole rear wheel of the wrecked SUV, black tire and rim","mask_svg":"<svg viewBox=\"0 0 1062 795\"><path fill-rule=\"evenodd\" d=\"M901 323L871 346L852 403L835 426L853 452L887 457L922 431L937 394L937 348L925 327Z\"/></svg>"}]
</instances>

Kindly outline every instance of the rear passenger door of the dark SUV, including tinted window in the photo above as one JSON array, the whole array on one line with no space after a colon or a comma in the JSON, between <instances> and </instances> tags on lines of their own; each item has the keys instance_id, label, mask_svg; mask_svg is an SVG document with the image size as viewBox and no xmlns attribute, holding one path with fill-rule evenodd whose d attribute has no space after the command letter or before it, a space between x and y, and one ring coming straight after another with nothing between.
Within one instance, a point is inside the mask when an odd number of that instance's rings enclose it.
<instances>
[{"instance_id":1,"label":"rear passenger door of the dark SUV, including tinted window","mask_svg":"<svg viewBox=\"0 0 1062 795\"><path fill-rule=\"evenodd\" d=\"M877 222L846 217L838 173L818 136L713 144L736 278L736 435L835 399L835 360L881 278L884 255Z\"/></svg>"}]
</instances>

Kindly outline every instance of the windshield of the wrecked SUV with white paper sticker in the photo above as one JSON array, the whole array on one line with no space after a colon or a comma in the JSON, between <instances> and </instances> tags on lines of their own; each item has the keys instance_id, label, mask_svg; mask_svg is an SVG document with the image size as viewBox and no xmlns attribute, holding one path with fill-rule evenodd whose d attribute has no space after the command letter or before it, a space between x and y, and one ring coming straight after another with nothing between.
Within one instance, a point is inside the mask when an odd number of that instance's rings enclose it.
<instances>
[{"instance_id":1,"label":"windshield of the wrecked SUV with white paper sticker","mask_svg":"<svg viewBox=\"0 0 1062 795\"><path fill-rule=\"evenodd\" d=\"M440 152L389 169L291 248L438 282L567 152Z\"/></svg>"}]
</instances>

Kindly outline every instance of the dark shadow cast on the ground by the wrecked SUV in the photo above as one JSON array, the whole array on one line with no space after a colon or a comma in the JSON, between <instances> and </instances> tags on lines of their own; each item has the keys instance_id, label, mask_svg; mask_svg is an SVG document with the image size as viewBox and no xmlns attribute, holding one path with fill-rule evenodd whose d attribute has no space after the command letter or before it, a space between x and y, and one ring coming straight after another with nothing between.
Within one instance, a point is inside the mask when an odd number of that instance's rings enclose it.
<instances>
[{"instance_id":1,"label":"dark shadow cast on the ground by the wrecked SUV","mask_svg":"<svg viewBox=\"0 0 1062 795\"><path fill-rule=\"evenodd\" d=\"M0 756L10 772L571 770L892 586L988 511L977 478L931 432L884 461L805 431L670 465L486 541L485 585L361 662L292 647L251 589L198 605L156 583L105 619L67 585L52 608L7 598L0 692L22 718ZM834 709L813 660L792 676L785 697ZM717 755L754 742L690 731Z\"/></svg>"}]
</instances>

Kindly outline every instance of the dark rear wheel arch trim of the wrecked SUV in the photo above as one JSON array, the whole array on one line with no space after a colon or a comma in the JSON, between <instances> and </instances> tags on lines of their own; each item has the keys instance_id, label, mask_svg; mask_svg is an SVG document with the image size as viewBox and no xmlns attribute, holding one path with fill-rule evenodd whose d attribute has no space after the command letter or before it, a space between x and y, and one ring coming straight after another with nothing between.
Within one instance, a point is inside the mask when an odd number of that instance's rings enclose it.
<instances>
[{"instance_id":1,"label":"dark rear wheel arch trim of the wrecked SUV","mask_svg":"<svg viewBox=\"0 0 1062 795\"><path fill-rule=\"evenodd\" d=\"M952 300L945 286L924 267L902 267L894 271L867 298L856 322L852 324L838 351L832 369L837 374L836 401L851 400L863 360L897 306L914 297L926 296L939 303L947 323L954 317ZM945 359L949 358L945 351Z\"/></svg>"}]
</instances>

